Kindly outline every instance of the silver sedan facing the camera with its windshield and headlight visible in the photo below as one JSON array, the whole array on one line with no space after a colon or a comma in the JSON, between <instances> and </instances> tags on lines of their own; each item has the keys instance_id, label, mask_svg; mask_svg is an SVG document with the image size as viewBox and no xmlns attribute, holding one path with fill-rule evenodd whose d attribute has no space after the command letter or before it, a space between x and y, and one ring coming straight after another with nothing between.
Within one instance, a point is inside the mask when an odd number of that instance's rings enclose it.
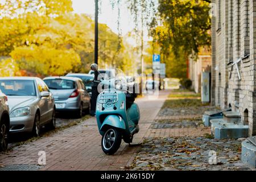
<instances>
[{"instance_id":1,"label":"silver sedan facing the camera with its windshield and headlight visible","mask_svg":"<svg viewBox=\"0 0 256 182\"><path fill-rule=\"evenodd\" d=\"M8 97L10 133L29 132L38 137L48 124L55 129L55 102L43 80L37 77L2 77L0 89Z\"/></svg>"}]
</instances>

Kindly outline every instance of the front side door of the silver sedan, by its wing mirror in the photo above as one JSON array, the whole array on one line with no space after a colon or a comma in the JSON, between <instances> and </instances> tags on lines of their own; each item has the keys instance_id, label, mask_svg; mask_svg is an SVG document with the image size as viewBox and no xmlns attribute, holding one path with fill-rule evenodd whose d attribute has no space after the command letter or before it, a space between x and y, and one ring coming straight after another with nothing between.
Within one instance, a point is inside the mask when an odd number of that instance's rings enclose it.
<instances>
[{"instance_id":1,"label":"front side door of the silver sedan, by its wing mirror","mask_svg":"<svg viewBox=\"0 0 256 182\"><path fill-rule=\"evenodd\" d=\"M48 119L48 97L41 97L41 92L43 92L43 84L42 81L40 79L36 79L36 85L38 86L38 90L39 90L39 97L40 100L38 102L38 106L40 109L40 124L43 125L44 123L47 122Z\"/></svg>"}]
</instances>

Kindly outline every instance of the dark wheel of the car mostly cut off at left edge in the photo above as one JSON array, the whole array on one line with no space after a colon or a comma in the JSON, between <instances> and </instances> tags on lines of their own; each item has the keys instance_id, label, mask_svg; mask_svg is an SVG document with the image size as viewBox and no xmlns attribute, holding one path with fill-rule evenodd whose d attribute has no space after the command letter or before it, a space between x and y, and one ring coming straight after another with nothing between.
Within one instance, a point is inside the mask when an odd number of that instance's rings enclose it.
<instances>
[{"instance_id":1,"label":"dark wheel of the car mostly cut off at left edge","mask_svg":"<svg viewBox=\"0 0 256 182\"><path fill-rule=\"evenodd\" d=\"M0 151L7 151L9 138L9 127L3 119L0 121Z\"/></svg>"}]
</instances>

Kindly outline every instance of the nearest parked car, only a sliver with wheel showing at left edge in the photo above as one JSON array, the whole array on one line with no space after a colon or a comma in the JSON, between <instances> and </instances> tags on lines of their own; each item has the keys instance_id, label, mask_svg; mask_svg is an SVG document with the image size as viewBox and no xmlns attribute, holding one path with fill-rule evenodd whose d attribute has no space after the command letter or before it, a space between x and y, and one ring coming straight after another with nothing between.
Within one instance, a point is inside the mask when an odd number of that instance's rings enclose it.
<instances>
[{"instance_id":1,"label":"nearest parked car, only a sliver with wheel showing at left edge","mask_svg":"<svg viewBox=\"0 0 256 182\"><path fill-rule=\"evenodd\" d=\"M7 97L0 90L0 151L6 151L8 148L10 117Z\"/></svg>"}]
</instances>

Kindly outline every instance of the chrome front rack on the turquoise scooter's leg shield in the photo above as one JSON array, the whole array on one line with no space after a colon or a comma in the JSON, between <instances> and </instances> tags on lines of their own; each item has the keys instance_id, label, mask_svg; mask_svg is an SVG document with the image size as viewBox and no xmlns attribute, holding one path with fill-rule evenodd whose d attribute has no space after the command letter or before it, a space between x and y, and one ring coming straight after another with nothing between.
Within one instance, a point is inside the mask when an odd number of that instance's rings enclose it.
<instances>
[{"instance_id":1,"label":"chrome front rack on the turquoise scooter's leg shield","mask_svg":"<svg viewBox=\"0 0 256 182\"><path fill-rule=\"evenodd\" d=\"M100 94L98 102L100 104L113 104L118 101L117 90L106 89Z\"/></svg>"}]
</instances>

